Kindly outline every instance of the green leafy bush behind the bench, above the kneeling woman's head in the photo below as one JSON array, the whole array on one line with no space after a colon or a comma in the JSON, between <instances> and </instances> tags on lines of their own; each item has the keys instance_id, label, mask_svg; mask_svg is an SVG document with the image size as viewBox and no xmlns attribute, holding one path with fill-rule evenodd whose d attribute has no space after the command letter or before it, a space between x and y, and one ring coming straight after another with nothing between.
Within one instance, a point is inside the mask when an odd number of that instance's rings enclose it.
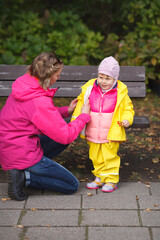
<instances>
[{"instance_id":1,"label":"green leafy bush behind the bench, above the kneeling woman's head","mask_svg":"<svg viewBox=\"0 0 160 240\"><path fill-rule=\"evenodd\" d=\"M45 11L43 18L21 12L10 22L1 22L0 64L30 64L36 55L52 49L67 65L94 64L101 59L102 35L89 30L71 11Z\"/></svg>"}]
</instances>

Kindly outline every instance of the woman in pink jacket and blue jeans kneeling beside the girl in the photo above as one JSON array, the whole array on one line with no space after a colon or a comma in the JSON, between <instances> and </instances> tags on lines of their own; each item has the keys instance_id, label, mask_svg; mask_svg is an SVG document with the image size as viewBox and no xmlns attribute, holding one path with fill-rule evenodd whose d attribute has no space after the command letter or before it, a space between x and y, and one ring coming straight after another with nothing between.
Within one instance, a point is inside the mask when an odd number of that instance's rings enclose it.
<instances>
[{"instance_id":1,"label":"woman in pink jacket and blue jeans kneeling beside the girl","mask_svg":"<svg viewBox=\"0 0 160 240\"><path fill-rule=\"evenodd\" d=\"M72 123L77 104L57 108L50 89L60 76L63 62L54 52L37 56L12 85L12 93L0 112L0 164L7 171L8 195L24 200L23 187L48 189L66 194L78 189L78 180L53 158L73 142L90 121L89 105Z\"/></svg>"}]
</instances>

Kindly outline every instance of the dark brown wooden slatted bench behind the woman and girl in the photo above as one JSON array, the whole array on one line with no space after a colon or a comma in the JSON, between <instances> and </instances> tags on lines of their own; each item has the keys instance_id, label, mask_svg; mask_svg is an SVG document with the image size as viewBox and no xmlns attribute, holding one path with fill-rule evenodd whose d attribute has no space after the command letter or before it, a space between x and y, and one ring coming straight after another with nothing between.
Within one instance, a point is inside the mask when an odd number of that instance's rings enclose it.
<instances>
[{"instance_id":1,"label":"dark brown wooden slatted bench behind the woman and girl","mask_svg":"<svg viewBox=\"0 0 160 240\"><path fill-rule=\"evenodd\" d=\"M26 72L26 65L0 65L0 97L9 96L13 81ZM97 66L64 66L60 79L53 87L60 87L55 97L77 97L81 86L91 78L97 77ZM128 87L131 98L145 98L145 67L122 66L120 67L119 80ZM148 117L135 116L132 127L148 128Z\"/></svg>"}]
</instances>

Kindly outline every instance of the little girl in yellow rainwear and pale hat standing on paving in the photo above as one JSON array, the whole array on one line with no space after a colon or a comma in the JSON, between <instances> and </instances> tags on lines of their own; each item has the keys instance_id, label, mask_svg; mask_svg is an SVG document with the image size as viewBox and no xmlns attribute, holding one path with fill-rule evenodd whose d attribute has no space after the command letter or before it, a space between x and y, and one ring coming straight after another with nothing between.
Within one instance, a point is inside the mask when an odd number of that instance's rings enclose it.
<instances>
[{"instance_id":1,"label":"little girl in yellow rainwear and pale hat standing on paving","mask_svg":"<svg viewBox=\"0 0 160 240\"><path fill-rule=\"evenodd\" d=\"M118 80L120 67L113 57L105 58L98 67L98 78L82 86L72 120L81 114L89 100L91 121L80 136L87 139L89 158L93 162L95 181L87 188L113 192L119 181L119 144L126 141L125 127L133 123L134 110L127 86Z\"/></svg>"}]
</instances>

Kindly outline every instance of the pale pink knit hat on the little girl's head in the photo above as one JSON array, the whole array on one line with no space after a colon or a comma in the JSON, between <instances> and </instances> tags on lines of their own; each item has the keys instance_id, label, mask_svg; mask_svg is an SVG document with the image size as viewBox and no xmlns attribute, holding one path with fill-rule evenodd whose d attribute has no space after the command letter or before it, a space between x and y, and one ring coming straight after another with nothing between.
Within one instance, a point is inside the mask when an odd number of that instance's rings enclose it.
<instances>
[{"instance_id":1,"label":"pale pink knit hat on the little girl's head","mask_svg":"<svg viewBox=\"0 0 160 240\"><path fill-rule=\"evenodd\" d=\"M114 78L116 81L119 77L119 63L113 57L106 57L98 67L98 73L102 73Z\"/></svg>"}]
</instances>

